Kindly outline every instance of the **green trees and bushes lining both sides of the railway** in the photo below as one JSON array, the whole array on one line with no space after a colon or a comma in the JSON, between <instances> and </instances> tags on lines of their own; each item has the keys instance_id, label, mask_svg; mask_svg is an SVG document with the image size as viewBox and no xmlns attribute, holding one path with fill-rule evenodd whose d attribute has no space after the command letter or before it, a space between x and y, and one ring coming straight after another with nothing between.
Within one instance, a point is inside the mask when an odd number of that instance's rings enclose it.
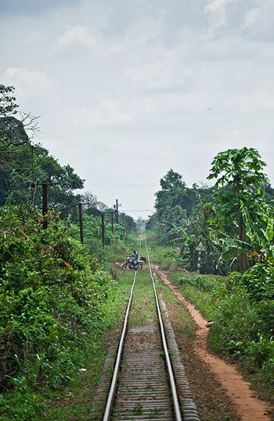
<instances>
[{"instance_id":1,"label":"green trees and bushes lining both sides of the railway","mask_svg":"<svg viewBox=\"0 0 274 421\"><path fill-rule=\"evenodd\" d=\"M84 180L29 140L12 95L13 87L0 85L0 415L24 421L46 413L48 397L95 358L121 300L111 262L123 260L128 234L144 221L119 213L117 224L91 192L74 194ZM160 268L196 271L202 241L201 271L230 274L172 277L214 319L212 347L273 387L274 208L265 165L255 149L228 149L212 162L215 186L191 188L171 169L146 228L158 241L151 253ZM43 181L54 184L41 217Z\"/></svg>"}]
</instances>

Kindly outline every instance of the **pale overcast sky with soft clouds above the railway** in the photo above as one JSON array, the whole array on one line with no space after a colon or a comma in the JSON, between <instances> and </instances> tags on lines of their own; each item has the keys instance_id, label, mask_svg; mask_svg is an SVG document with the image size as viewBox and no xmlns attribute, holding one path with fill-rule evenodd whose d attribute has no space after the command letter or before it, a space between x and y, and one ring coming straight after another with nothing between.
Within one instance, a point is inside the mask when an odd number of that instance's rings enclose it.
<instances>
[{"instance_id":1,"label":"pale overcast sky with soft clouds above the railway","mask_svg":"<svg viewBox=\"0 0 274 421\"><path fill-rule=\"evenodd\" d=\"M153 213L172 168L254 147L274 184L274 0L0 0L0 83L98 200Z\"/></svg>"}]
</instances>

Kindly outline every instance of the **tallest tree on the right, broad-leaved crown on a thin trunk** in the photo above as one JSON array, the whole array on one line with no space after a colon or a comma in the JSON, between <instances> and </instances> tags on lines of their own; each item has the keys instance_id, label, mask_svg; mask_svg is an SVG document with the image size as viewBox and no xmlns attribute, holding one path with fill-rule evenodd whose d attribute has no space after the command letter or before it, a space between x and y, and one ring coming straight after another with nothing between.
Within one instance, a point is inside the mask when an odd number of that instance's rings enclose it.
<instances>
[{"instance_id":1,"label":"tallest tree on the right, broad-leaved crown on a thin trunk","mask_svg":"<svg viewBox=\"0 0 274 421\"><path fill-rule=\"evenodd\" d=\"M226 258L231 258L233 251L235 251L234 255L239 256L238 263L241 273L245 272L249 266L245 251L247 248L245 244L246 225L242 207L250 209L254 213L254 217L260 210L260 193L257 200L254 194L260 183L268 181L266 175L261 172L264 166L266 163L261 161L259 152L254 148L228 149L215 156L210 175L207 177L208 179L217 179L215 182L217 190L214 195L216 205L211 218L212 225L221 229L222 232L227 232L231 238L235 239L235 236L238 236L238 240L242 241L242 253L239 253L238 246L233 246L226 253ZM225 187L219 189L220 186Z\"/></svg>"}]
</instances>

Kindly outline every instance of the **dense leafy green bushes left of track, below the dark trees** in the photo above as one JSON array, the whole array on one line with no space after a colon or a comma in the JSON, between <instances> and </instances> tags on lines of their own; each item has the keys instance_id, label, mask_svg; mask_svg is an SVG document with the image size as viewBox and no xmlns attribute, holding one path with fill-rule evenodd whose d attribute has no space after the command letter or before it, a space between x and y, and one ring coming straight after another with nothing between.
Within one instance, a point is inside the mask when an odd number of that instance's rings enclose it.
<instances>
[{"instance_id":1,"label":"dense leafy green bushes left of track, below the dark trees","mask_svg":"<svg viewBox=\"0 0 274 421\"><path fill-rule=\"evenodd\" d=\"M50 393L78 375L93 346L88 338L95 343L105 328L102 316L114 281L71 234L71 225L58 218L41 229L35 208L0 208L0 399L5 420L35 419L43 408L35 391Z\"/></svg>"}]
</instances>

